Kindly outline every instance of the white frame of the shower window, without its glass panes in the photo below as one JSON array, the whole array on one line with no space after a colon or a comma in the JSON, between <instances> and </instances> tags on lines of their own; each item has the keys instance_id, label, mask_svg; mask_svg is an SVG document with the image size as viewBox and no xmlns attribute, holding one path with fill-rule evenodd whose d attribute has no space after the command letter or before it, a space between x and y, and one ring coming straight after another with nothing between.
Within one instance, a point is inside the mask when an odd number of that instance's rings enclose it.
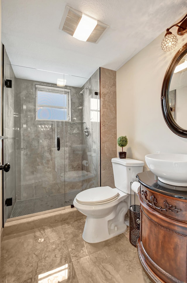
<instances>
[{"instance_id":1,"label":"white frame of the shower window, without its glass panes","mask_svg":"<svg viewBox=\"0 0 187 283\"><path fill-rule=\"evenodd\" d=\"M58 93L58 94L63 94L66 95L67 97L67 107L65 106L53 106L53 105L43 105L43 104L38 104L38 96L37 93L38 91L49 91L52 93ZM44 120L44 119L38 119L38 106L41 107L50 107L50 108L61 108L61 109L67 109L67 120ZM47 85L35 85L35 112L36 112L36 121L71 121L71 90L66 89L66 88L58 88L58 87L53 87L53 86L47 86Z\"/></svg>"}]
</instances>

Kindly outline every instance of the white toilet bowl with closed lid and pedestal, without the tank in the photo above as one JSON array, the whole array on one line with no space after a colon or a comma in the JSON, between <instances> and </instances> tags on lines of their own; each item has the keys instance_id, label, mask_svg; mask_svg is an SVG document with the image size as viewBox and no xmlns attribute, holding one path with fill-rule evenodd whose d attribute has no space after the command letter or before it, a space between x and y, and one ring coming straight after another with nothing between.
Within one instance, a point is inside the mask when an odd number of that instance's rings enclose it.
<instances>
[{"instance_id":1,"label":"white toilet bowl with closed lid and pedestal, without the tank","mask_svg":"<svg viewBox=\"0 0 187 283\"><path fill-rule=\"evenodd\" d=\"M107 191L110 191L111 196L113 191L112 200L106 200L108 199ZM94 199L95 203L80 203L82 193L87 193L88 199L89 195L90 198L91 195L98 196L98 198ZM103 200L100 202L101 195L103 195ZM125 232L127 225L124 223L124 215L128 211L127 202L124 201L126 198L129 198L128 194L108 186L91 188L79 193L73 205L87 216L82 234L83 240L88 243L98 243Z\"/></svg>"}]
</instances>

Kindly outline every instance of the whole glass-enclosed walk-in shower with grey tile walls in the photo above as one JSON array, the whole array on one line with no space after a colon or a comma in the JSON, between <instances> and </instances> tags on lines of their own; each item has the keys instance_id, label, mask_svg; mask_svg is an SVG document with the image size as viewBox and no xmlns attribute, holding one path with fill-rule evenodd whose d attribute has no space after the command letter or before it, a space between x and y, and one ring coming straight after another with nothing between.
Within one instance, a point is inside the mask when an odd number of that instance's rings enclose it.
<instances>
[{"instance_id":1,"label":"whole glass-enclosed walk-in shower with grey tile walls","mask_svg":"<svg viewBox=\"0 0 187 283\"><path fill-rule=\"evenodd\" d=\"M3 53L5 223L72 207L77 193L100 186L100 102L99 70L79 78L11 65Z\"/></svg>"}]
</instances>

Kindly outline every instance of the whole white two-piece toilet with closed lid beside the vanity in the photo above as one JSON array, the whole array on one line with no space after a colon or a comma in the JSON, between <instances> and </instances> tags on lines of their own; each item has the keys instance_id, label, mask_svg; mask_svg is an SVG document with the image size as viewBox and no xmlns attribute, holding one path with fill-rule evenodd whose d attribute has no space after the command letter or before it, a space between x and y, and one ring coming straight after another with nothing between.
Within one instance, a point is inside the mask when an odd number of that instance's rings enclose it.
<instances>
[{"instance_id":1,"label":"whole white two-piece toilet with closed lid beside the vanity","mask_svg":"<svg viewBox=\"0 0 187 283\"><path fill-rule=\"evenodd\" d=\"M131 158L112 158L116 188L96 187L77 194L73 205L86 215L82 238L88 243L98 243L126 231L124 216L128 211L131 182L143 172L143 161Z\"/></svg>"}]
</instances>

